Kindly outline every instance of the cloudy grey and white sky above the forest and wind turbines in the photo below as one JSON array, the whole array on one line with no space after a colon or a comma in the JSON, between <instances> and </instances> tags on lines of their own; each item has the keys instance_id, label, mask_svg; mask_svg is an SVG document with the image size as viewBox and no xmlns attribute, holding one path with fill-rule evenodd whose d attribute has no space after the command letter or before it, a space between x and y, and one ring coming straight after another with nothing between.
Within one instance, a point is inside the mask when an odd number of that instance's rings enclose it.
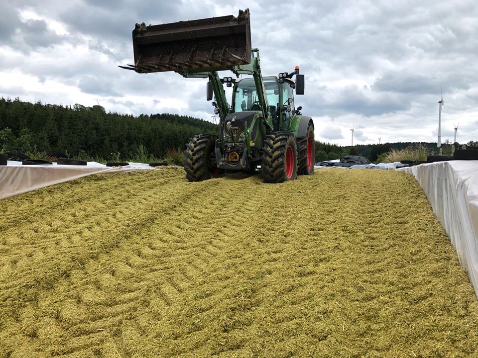
<instances>
[{"instance_id":1,"label":"cloudy grey and white sky above the forest and wind turbines","mask_svg":"<svg viewBox=\"0 0 478 358\"><path fill-rule=\"evenodd\" d=\"M421 3L416 5L416 3ZM262 72L306 76L302 113L316 139L350 145L478 140L475 1L0 0L0 96L169 112L212 120L204 79L137 74L136 22L235 15L248 7Z\"/></svg>"}]
</instances>

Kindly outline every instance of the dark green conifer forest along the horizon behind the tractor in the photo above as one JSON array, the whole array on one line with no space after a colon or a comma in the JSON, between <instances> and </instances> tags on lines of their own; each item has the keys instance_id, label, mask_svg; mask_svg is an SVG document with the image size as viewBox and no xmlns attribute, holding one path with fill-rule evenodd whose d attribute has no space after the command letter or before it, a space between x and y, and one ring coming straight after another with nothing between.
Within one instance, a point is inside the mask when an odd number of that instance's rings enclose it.
<instances>
[{"instance_id":1,"label":"dark green conifer forest along the horizon behind the tractor","mask_svg":"<svg viewBox=\"0 0 478 358\"><path fill-rule=\"evenodd\" d=\"M318 124L316 123L316 127ZM20 151L44 153L57 151L72 158L131 160L165 158L176 153L175 162L186 143L195 134L219 134L219 126L211 122L177 114L107 113L100 105L62 106L22 102L0 98L0 152ZM470 142L474 144L474 142ZM359 155L369 162L377 161L391 149L401 150L421 145L429 153L437 151L436 143L385 143L341 147L316 141L316 162ZM146 153L146 155L144 155Z\"/></svg>"}]
</instances>

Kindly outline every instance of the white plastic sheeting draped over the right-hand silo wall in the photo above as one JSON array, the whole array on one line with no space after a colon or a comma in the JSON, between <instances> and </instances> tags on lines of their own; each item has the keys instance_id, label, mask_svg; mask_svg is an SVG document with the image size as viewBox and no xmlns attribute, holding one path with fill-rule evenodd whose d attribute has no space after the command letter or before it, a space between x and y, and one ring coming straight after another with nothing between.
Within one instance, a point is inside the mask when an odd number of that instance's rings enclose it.
<instances>
[{"instance_id":1,"label":"white plastic sheeting draped over the right-hand silo wall","mask_svg":"<svg viewBox=\"0 0 478 358\"><path fill-rule=\"evenodd\" d=\"M478 161L421 164L412 174L445 228L478 296Z\"/></svg>"}]
</instances>

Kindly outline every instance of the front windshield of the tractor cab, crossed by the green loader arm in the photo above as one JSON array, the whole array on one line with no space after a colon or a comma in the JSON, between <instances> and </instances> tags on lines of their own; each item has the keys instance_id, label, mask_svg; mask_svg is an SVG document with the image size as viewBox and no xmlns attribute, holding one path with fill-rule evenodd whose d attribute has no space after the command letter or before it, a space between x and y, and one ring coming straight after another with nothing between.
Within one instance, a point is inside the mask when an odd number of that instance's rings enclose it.
<instances>
[{"instance_id":1,"label":"front windshield of the tractor cab, crossed by the green loader arm","mask_svg":"<svg viewBox=\"0 0 478 358\"><path fill-rule=\"evenodd\" d=\"M267 102L269 103L269 107L271 107L271 112L273 112L279 103L279 83L275 77L264 77L263 81ZM236 86L233 109L235 112L260 110L259 98L257 97L257 90L255 89L253 78L243 79Z\"/></svg>"}]
</instances>

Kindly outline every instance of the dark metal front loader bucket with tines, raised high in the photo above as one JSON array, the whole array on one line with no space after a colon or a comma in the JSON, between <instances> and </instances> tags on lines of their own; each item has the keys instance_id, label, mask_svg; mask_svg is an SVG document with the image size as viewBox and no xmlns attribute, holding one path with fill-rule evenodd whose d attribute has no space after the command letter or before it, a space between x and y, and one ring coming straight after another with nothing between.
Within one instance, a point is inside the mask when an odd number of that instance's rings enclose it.
<instances>
[{"instance_id":1,"label":"dark metal front loader bucket with tines, raised high","mask_svg":"<svg viewBox=\"0 0 478 358\"><path fill-rule=\"evenodd\" d=\"M163 25L136 24L134 66L138 73L209 72L250 63L249 9L229 15Z\"/></svg>"}]
</instances>

